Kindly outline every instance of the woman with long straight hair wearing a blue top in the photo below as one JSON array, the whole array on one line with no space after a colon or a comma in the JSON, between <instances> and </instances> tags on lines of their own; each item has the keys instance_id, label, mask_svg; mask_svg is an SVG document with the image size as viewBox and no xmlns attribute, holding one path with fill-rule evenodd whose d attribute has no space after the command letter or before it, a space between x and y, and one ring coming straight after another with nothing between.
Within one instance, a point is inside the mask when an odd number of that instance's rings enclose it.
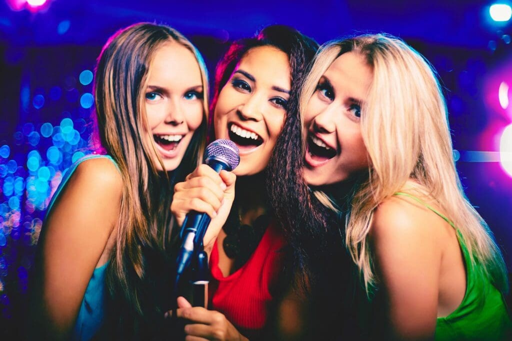
<instances>
[{"instance_id":1,"label":"woman with long straight hair wearing a blue top","mask_svg":"<svg viewBox=\"0 0 512 341\"><path fill-rule=\"evenodd\" d=\"M203 59L176 30L136 24L105 44L94 93L95 152L68 170L39 239L37 338L151 338L168 308L168 208L205 145Z\"/></svg>"}]
</instances>

